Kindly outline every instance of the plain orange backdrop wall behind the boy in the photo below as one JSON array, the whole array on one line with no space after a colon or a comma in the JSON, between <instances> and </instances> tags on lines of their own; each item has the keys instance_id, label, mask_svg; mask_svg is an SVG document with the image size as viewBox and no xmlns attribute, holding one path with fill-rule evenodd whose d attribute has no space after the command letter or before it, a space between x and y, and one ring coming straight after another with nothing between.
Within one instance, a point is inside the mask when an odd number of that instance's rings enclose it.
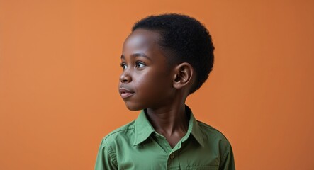
<instances>
[{"instance_id":1,"label":"plain orange backdrop wall behind the boy","mask_svg":"<svg viewBox=\"0 0 314 170\"><path fill-rule=\"evenodd\" d=\"M186 13L215 65L190 96L237 169L314 169L314 1L0 0L0 169L94 169L101 138L138 116L117 91L123 40Z\"/></svg>"}]
</instances>

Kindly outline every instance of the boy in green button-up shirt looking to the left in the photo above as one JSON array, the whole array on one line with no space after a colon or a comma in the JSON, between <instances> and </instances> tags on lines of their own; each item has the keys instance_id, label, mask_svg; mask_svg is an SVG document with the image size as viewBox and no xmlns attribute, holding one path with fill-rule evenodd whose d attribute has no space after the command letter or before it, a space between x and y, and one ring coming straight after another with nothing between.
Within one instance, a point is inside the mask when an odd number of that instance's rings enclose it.
<instances>
[{"instance_id":1,"label":"boy in green button-up shirt looking to the left","mask_svg":"<svg viewBox=\"0 0 314 170\"><path fill-rule=\"evenodd\" d=\"M235 169L218 130L185 105L213 67L213 43L196 19L149 16L123 44L118 90L136 120L103 138L95 169Z\"/></svg>"}]
</instances>

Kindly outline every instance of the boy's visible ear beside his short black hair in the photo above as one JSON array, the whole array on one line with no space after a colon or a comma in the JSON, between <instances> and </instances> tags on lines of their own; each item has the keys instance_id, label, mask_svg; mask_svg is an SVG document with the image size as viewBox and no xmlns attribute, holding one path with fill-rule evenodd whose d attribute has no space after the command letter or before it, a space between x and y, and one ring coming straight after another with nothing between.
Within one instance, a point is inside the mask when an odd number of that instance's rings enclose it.
<instances>
[{"instance_id":1,"label":"boy's visible ear beside his short black hair","mask_svg":"<svg viewBox=\"0 0 314 170\"><path fill-rule=\"evenodd\" d=\"M191 64L183 62L175 67L173 86L176 89L181 89L184 86L193 84L194 69Z\"/></svg>"}]
</instances>

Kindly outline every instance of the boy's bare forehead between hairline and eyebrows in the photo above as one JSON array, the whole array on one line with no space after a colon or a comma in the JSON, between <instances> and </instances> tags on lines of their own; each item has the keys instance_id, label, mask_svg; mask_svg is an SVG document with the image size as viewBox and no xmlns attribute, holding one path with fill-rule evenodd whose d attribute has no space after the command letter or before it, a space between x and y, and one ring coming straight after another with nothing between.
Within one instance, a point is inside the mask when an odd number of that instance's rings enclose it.
<instances>
[{"instance_id":1,"label":"boy's bare forehead between hairline and eyebrows","mask_svg":"<svg viewBox=\"0 0 314 170\"><path fill-rule=\"evenodd\" d=\"M160 52L160 35L157 31L136 29L123 43L123 53Z\"/></svg>"}]
</instances>

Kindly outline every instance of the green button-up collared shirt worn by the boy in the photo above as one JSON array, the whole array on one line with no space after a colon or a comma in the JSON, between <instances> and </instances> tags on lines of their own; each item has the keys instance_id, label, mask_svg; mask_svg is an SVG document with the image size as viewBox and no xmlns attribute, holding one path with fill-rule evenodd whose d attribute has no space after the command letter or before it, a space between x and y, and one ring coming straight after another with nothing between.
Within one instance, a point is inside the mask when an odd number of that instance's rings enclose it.
<instances>
[{"instance_id":1,"label":"green button-up collared shirt worn by the boy","mask_svg":"<svg viewBox=\"0 0 314 170\"><path fill-rule=\"evenodd\" d=\"M142 111L136 120L103 138L95 169L235 169L225 136L197 121L189 108L188 112L189 129L172 148Z\"/></svg>"}]
</instances>

